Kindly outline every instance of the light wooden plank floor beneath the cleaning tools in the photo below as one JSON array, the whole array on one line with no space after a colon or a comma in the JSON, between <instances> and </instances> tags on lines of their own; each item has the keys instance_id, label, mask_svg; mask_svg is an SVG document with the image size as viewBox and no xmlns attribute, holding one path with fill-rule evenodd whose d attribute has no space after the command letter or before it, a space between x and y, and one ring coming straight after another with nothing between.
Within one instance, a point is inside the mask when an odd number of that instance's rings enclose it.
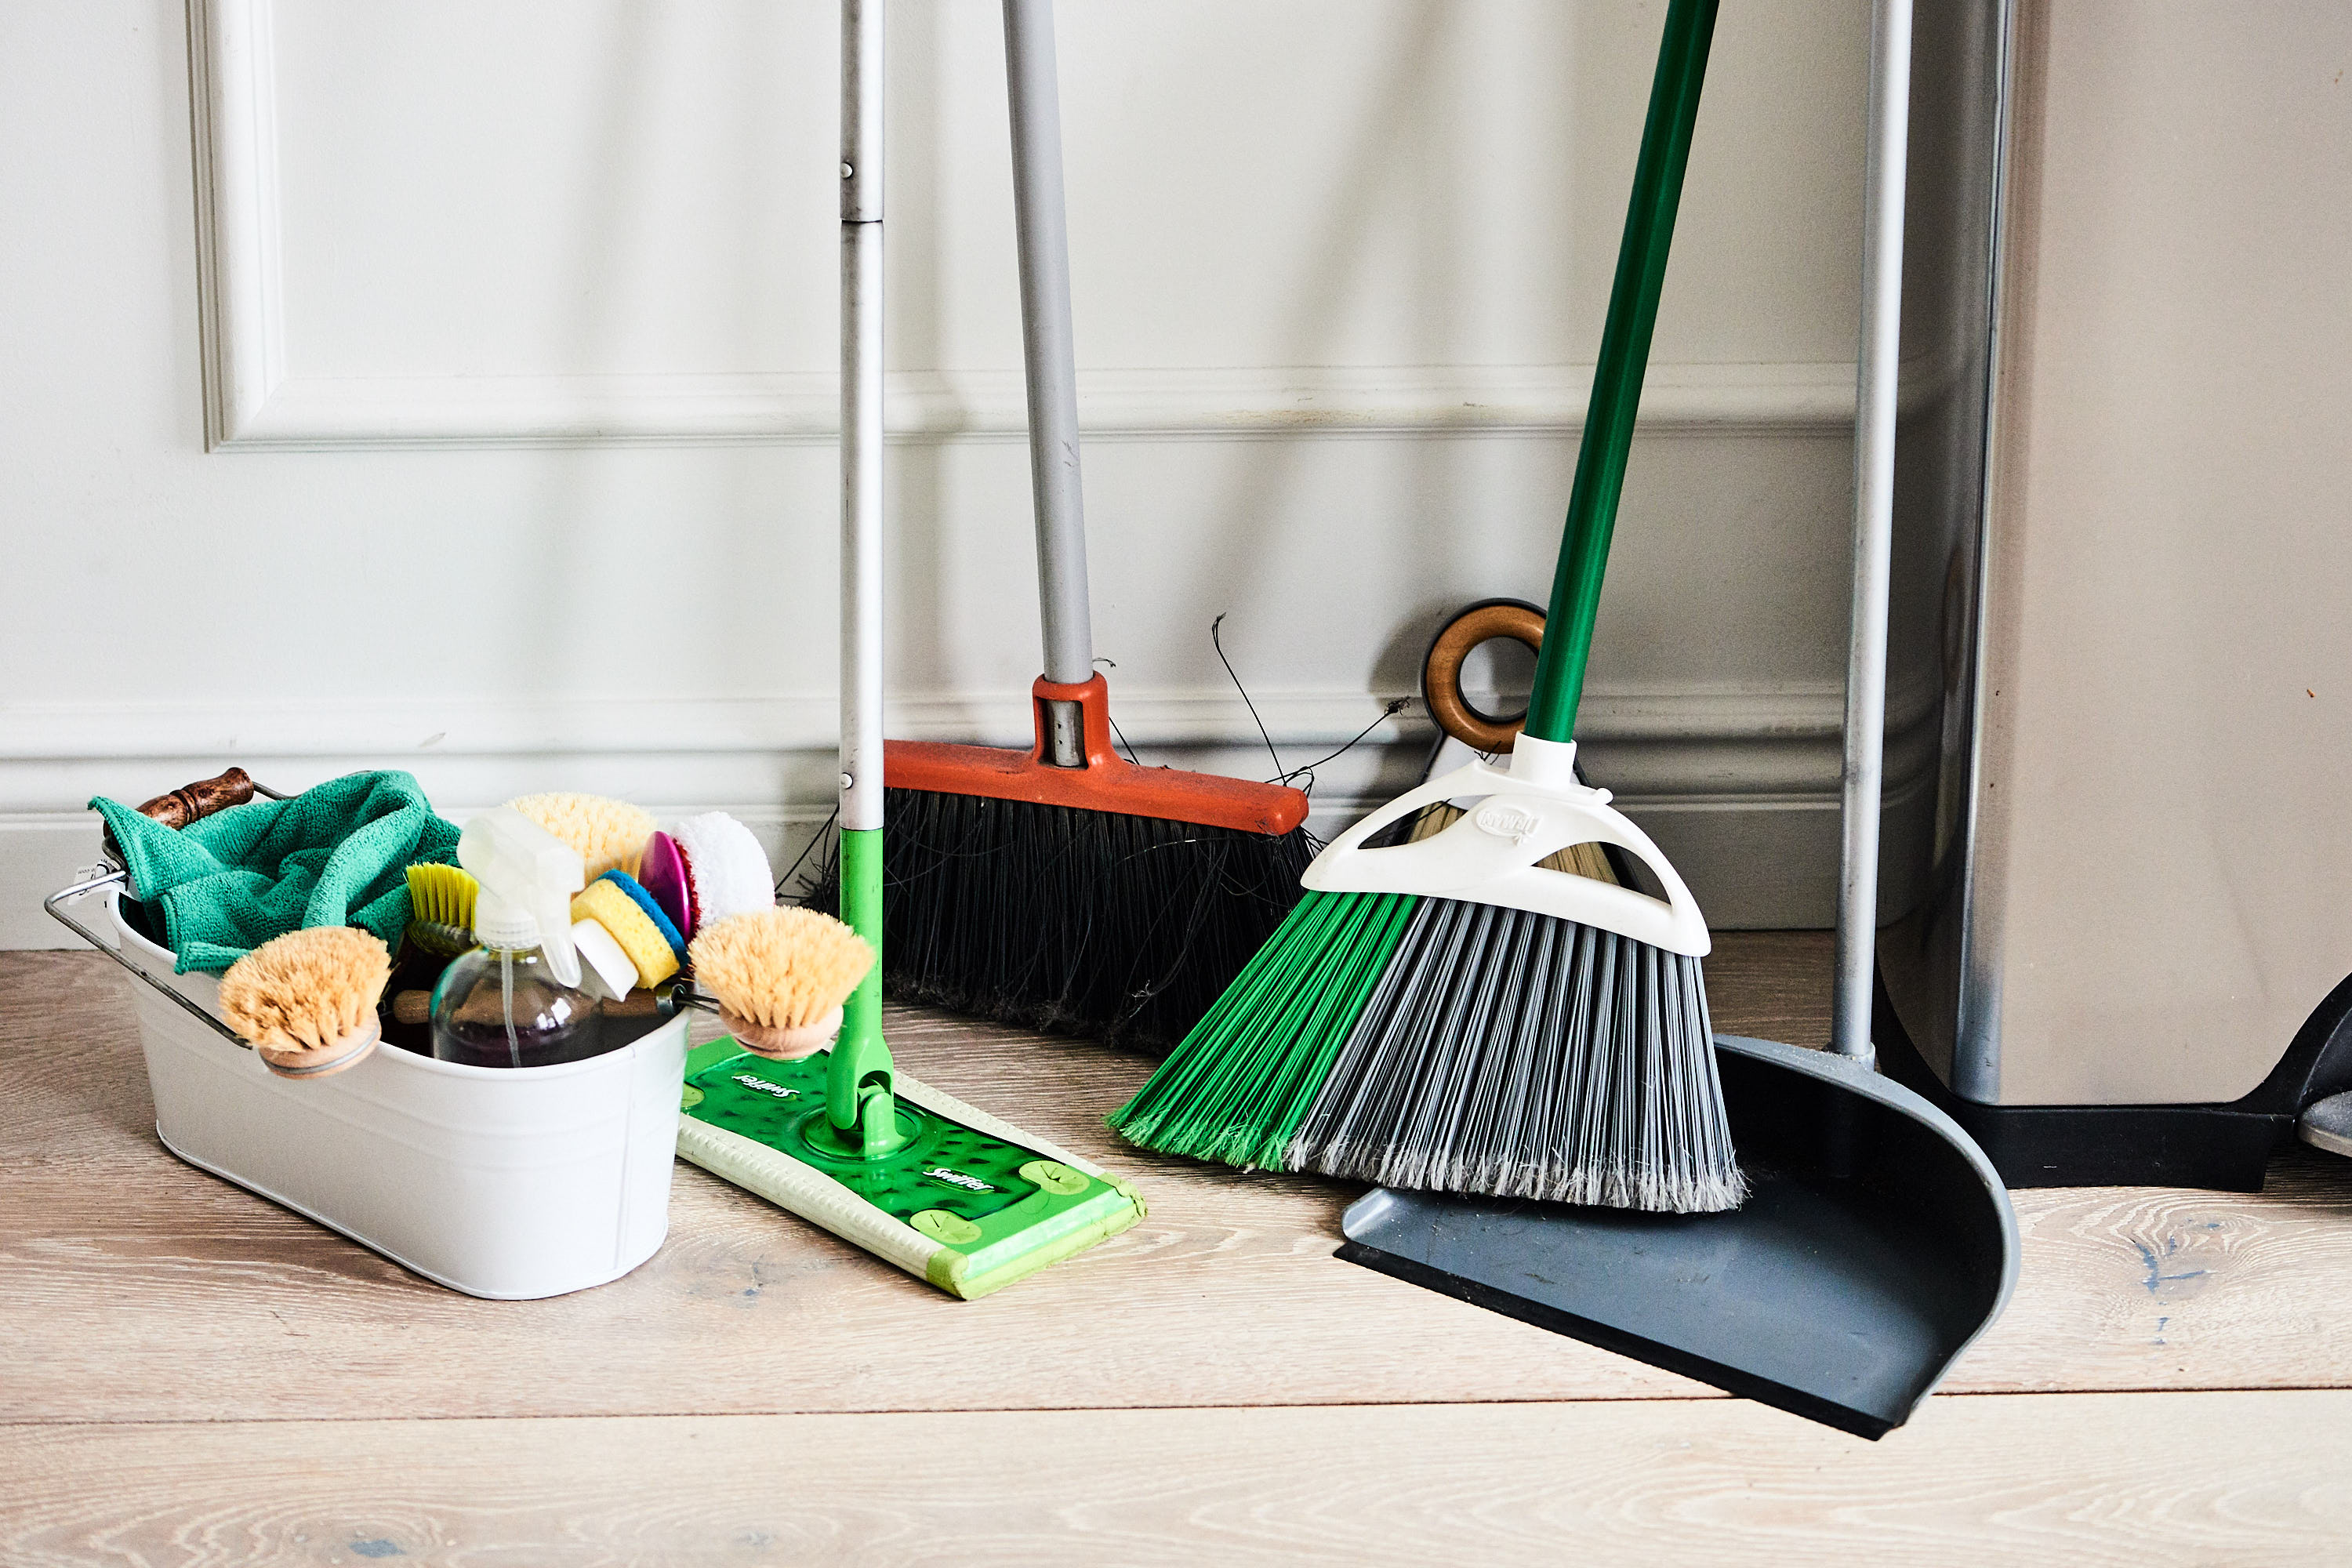
<instances>
[{"instance_id":1,"label":"light wooden plank floor beneath the cleaning tools","mask_svg":"<svg viewBox=\"0 0 2352 1568\"><path fill-rule=\"evenodd\" d=\"M1722 938L1717 1025L1820 1044L1828 957ZM1355 1185L1129 1150L1150 1063L938 1016L913 1074L1150 1218L964 1305L682 1166L628 1279L459 1298L165 1154L127 985L0 954L0 1563L2352 1556L2345 1161L2018 1194L2009 1314L1870 1446L1336 1262Z\"/></svg>"}]
</instances>

